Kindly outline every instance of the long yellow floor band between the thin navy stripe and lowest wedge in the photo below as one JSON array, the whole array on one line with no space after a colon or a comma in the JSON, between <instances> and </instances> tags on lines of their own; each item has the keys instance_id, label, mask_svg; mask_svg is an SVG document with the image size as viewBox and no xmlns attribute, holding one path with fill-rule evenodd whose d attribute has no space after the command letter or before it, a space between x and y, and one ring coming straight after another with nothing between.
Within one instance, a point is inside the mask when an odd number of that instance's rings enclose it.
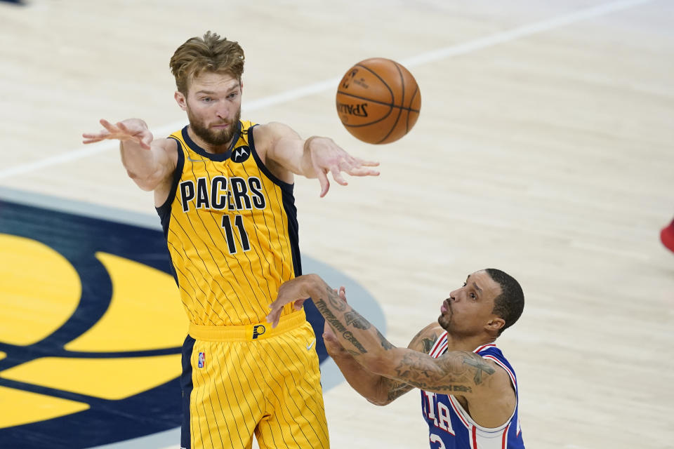
<instances>
[{"instance_id":1,"label":"long yellow floor band between the thin navy stripe and lowest wedge","mask_svg":"<svg viewBox=\"0 0 674 449\"><path fill-rule=\"evenodd\" d=\"M2 371L0 377L97 398L123 399L178 377L180 357L44 357Z\"/></svg>"}]
</instances>

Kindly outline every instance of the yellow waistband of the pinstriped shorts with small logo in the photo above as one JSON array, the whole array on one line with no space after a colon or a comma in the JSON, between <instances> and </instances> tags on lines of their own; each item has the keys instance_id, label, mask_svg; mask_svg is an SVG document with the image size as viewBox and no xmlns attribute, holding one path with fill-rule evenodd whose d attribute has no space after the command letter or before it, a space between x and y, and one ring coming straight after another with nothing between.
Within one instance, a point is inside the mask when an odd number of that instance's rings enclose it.
<instances>
[{"instance_id":1,"label":"yellow waistband of the pinstriped shorts with small logo","mask_svg":"<svg viewBox=\"0 0 674 449\"><path fill-rule=\"evenodd\" d=\"M195 340L209 342L252 342L298 328L306 321L307 317L304 309L302 309L282 316L275 328L272 328L271 323L245 324L243 326L199 326L190 323L190 336Z\"/></svg>"}]
</instances>

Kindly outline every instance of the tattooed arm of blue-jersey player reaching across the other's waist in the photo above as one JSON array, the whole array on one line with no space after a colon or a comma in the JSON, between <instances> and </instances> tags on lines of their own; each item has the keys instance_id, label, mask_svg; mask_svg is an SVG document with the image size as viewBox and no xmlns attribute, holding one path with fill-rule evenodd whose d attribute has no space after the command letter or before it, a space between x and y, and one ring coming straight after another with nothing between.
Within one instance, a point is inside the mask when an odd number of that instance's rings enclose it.
<instances>
[{"instance_id":1,"label":"tattooed arm of blue-jersey player reaching across the other's waist","mask_svg":"<svg viewBox=\"0 0 674 449\"><path fill-rule=\"evenodd\" d=\"M395 347L315 274L284 283L277 300L270 305L272 311L267 321L276 326L284 304L294 302L299 309L308 297L342 347L370 373L437 394L463 396L474 419L477 416L473 411L484 410L477 413L484 416L478 421L482 425L501 424L512 413L515 394L510 378L494 362L468 351L449 351L432 358L412 349ZM397 388L407 387L394 384L389 391Z\"/></svg>"}]
</instances>

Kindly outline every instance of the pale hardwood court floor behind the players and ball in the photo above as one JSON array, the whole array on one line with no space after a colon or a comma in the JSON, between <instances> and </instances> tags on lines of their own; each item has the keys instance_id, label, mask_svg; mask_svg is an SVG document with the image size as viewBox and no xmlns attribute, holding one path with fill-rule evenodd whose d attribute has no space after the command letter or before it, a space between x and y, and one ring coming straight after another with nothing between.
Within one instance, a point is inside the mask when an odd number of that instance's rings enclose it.
<instances>
[{"instance_id":1,"label":"pale hardwood court floor behind the players and ball","mask_svg":"<svg viewBox=\"0 0 674 449\"><path fill-rule=\"evenodd\" d=\"M0 4L0 187L152 215L116 145L80 134L182 126L169 58L216 30L246 51L245 118L381 161L324 199L298 180L296 199L303 253L369 290L394 344L466 274L504 269L527 297L498 345L528 447L674 448L673 20L666 0ZM338 78L374 56L422 94L383 147L334 110ZM376 408L342 383L325 401L335 448L428 445L417 391Z\"/></svg>"}]
</instances>

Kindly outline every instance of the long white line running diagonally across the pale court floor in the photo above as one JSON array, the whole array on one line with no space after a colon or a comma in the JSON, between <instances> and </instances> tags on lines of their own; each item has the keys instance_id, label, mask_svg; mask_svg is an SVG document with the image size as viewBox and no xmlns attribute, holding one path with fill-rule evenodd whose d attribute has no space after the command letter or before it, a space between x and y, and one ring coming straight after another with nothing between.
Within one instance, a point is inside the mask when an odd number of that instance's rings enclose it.
<instances>
[{"instance_id":1,"label":"long white line running diagonally across the pale court floor","mask_svg":"<svg viewBox=\"0 0 674 449\"><path fill-rule=\"evenodd\" d=\"M491 36L481 37L480 39L475 39L474 41L459 43L458 45L448 46L444 48L438 48L437 50L422 53L421 55L415 56L414 58L400 60L400 63L405 67L416 67L418 65L428 64L428 62L435 62L451 58L452 56L465 55L466 53L481 50L482 48L495 46L498 45L499 43L514 41L515 39L520 39L521 37L531 36L532 34L550 31L550 29L564 27L565 25L571 25L572 23L580 22L581 20L597 18L602 15L607 15L609 13L614 13L615 11L621 11L623 9L632 8L633 6L641 4L647 4L652 1L654 0L612 1L611 3L593 6L592 8L581 9L580 11L576 11L574 13L560 15L559 17L556 18L541 20L540 22L530 23L529 25L523 25L522 27L509 29L508 31L491 34ZM311 84L310 86L292 89L291 91L286 91L284 93L279 93L277 95L271 95L269 97L260 98L259 100L246 102L246 105L242 106L242 109L244 109L244 111L246 112L255 111L257 109L263 109L265 107L279 105L287 101L297 100L298 98L308 97L309 95L314 95L316 93L322 93L324 91L328 91L329 89L335 88L340 80L341 76L326 79L325 81L319 81L317 83ZM183 126L185 126L185 121L171 123L170 125L162 126L161 128L152 129L152 134L169 135L170 133L173 133L173 131L175 131L176 129L182 128ZM70 150L65 153L59 154L58 156L51 156L46 159L42 159L41 161L25 163L20 166L0 170L0 180L15 175L23 175L25 173L30 173L32 171L39 170L40 168L58 165L59 163L66 163L84 157L93 156L94 154L110 151L111 149L116 149L118 147L119 143L104 140L103 142L87 145L84 148Z\"/></svg>"}]
</instances>

